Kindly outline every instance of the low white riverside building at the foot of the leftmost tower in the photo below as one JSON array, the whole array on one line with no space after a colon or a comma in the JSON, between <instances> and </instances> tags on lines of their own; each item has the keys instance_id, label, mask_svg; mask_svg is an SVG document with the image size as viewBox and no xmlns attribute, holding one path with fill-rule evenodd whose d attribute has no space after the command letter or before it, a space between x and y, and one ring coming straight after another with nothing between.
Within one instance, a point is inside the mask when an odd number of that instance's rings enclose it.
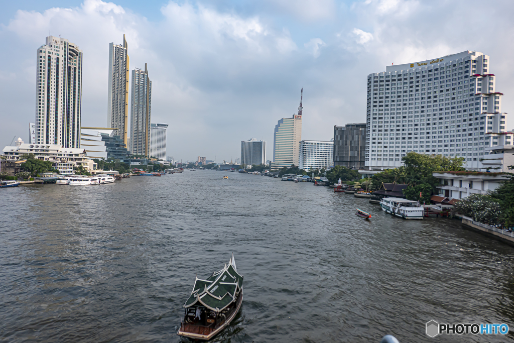
<instances>
[{"instance_id":1,"label":"low white riverside building at the foot of the leftmost tower","mask_svg":"<svg viewBox=\"0 0 514 343\"><path fill-rule=\"evenodd\" d=\"M23 143L19 147L5 147L3 150L7 160L19 160L23 154L34 154L34 158L52 161L52 162L68 162L74 167L82 166L88 172L92 172L96 163L86 156L84 148L64 148L58 144L30 144ZM63 166L64 167L64 166Z\"/></svg>"}]
</instances>

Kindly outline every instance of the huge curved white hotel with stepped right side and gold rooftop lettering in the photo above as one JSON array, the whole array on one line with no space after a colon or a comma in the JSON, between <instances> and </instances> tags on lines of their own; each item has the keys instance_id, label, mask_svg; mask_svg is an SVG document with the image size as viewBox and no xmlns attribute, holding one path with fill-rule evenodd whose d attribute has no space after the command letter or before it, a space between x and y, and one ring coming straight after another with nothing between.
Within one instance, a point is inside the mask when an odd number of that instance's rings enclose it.
<instances>
[{"instance_id":1,"label":"huge curved white hotel with stepped right side and gold rooftop lettering","mask_svg":"<svg viewBox=\"0 0 514 343\"><path fill-rule=\"evenodd\" d=\"M489 56L464 51L370 74L366 168L399 167L410 151L465 157L466 169L483 168L486 133L505 131L503 94L490 70Z\"/></svg>"}]
</instances>

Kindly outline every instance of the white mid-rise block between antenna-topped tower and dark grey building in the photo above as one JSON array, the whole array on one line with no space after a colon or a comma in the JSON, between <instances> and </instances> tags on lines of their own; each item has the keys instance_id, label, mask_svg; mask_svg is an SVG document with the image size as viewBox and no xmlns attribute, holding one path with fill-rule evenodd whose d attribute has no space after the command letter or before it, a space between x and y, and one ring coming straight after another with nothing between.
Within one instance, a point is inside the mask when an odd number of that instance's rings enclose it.
<instances>
[{"instance_id":1,"label":"white mid-rise block between antenna-topped tower and dark grey building","mask_svg":"<svg viewBox=\"0 0 514 343\"><path fill-rule=\"evenodd\" d=\"M334 139L301 140L298 168L305 171L334 167Z\"/></svg>"}]
</instances>

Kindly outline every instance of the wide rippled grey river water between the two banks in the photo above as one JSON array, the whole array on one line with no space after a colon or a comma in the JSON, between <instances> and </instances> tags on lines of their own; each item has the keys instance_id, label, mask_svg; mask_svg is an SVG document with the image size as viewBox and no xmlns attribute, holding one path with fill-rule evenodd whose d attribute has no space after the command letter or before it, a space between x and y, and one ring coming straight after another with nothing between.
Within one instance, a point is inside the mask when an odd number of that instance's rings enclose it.
<instances>
[{"instance_id":1,"label":"wide rippled grey river water between the two banks","mask_svg":"<svg viewBox=\"0 0 514 343\"><path fill-rule=\"evenodd\" d=\"M514 330L514 248L457 220L406 221L311 183L223 174L0 190L0 341L186 342L176 331L195 274L232 252L244 301L215 341L514 339L425 334L431 319Z\"/></svg>"}]
</instances>

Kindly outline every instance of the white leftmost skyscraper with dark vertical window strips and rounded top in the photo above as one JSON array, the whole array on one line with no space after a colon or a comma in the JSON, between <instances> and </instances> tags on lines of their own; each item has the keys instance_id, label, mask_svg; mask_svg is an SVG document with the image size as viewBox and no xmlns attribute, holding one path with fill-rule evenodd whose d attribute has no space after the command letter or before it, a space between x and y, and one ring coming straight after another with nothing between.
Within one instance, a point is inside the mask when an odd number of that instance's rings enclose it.
<instances>
[{"instance_id":1,"label":"white leftmost skyscraper with dark vertical window strips and rounded top","mask_svg":"<svg viewBox=\"0 0 514 343\"><path fill-rule=\"evenodd\" d=\"M80 148L82 50L48 36L36 60L35 144Z\"/></svg>"}]
</instances>

